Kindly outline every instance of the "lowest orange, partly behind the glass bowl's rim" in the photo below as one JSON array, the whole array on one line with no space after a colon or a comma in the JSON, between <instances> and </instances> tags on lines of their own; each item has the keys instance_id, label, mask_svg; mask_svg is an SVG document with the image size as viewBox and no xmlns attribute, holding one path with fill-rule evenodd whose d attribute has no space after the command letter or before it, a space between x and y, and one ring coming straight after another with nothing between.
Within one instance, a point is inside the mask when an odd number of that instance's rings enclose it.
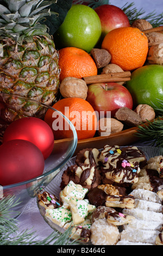
<instances>
[{"instance_id":1,"label":"lowest orange, partly behind the glass bowl's rim","mask_svg":"<svg viewBox=\"0 0 163 256\"><path fill-rule=\"evenodd\" d=\"M59 100L53 105L53 108L64 114L74 125L78 139L92 138L95 135L97 128L96 112L89 102L78 97L68 97ZM63 130L55 131L54 118L52 118L53 111L48 109L45 114L45 121L52 127L55 139L70 138L72 131ZM59 125L58 125L59 126ZM62 127L62 126L60 126ZM63 126L64 127L64 126Z\"/></svg>"}]
</instances>

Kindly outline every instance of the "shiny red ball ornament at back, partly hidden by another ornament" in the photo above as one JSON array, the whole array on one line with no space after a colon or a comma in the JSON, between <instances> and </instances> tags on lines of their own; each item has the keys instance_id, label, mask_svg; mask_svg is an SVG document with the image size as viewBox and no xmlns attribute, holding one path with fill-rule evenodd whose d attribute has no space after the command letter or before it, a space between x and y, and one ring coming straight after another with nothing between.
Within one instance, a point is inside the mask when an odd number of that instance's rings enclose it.
<instances>
[{"instance_id":1,"label":"shiny red ball ornament at back, partly hidden by another ornament","mask_svg":"<svg viewBox=\"0 0 163 256\"><path fill-rule=\"evenodd\" d=\"M13 121L5 130L3 142L12 139L25 139L35 144L42 152L44 159L51 155L54 146L54 135L49 125L35 117L25 117Z\"/></svg>"}]
</instances>

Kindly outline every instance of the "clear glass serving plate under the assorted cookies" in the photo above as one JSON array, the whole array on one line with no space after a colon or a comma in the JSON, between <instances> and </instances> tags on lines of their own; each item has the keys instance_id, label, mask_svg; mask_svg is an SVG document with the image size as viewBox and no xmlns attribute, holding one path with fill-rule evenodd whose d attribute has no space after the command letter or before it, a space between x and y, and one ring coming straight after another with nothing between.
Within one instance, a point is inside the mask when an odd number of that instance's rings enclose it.
<instances>
[{"instance_id":1,"label":"clear glass serving plate under the assorted cookies","mask_svg":"<svg viewBox=\"0 0 163 256\"><path fill-rule=\"evenodd\" d=\"M131 147L131 146L130 146ZM140 147L140 146L136 146L138 149L142 150L146 157L147 160L149 160L151 157L154 156L159 156L159 155L163 155L163 148L155 148L155 147ZM54 194L57 198L59 198L59 193L60 193L60 183L61 183L61 176L62 173L64 172L64 170L67 169L68 166L72 166L75 163L76 160L76 156L72 157L64 166L64 168L62 168L61 172L57 174L57 176L55 176L55 179L52 180L46 187L47 192L49 192L50 194ZM43 219L48 223L48 225L57 231L60 231L61 233L64 233L65 229L64 228L60 228L57 224L53 223L49 218L47 218L45 216L45 208L43 208L42 206L39 205L39 203L37 202L37 206L39 208L40 214L43 216ZM81 243L81 242L80 242ZM84 245L90 245L91 243L84 243Z\"/></svg>"}]
</instances>

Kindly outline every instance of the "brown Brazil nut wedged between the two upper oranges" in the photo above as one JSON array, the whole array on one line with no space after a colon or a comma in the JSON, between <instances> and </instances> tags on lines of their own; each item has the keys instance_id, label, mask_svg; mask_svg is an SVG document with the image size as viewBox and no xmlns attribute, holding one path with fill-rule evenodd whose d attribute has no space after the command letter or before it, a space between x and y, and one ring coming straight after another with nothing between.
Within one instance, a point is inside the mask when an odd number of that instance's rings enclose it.
<instances>
[{"instance_id":1,"label":"brown Brazil nut wedged between the two upper oranges","mask_svg":"<svg viewBox=\"0 0 163 256\"><path fill-rule=\"evenodd\" d=\"M111 54L104 49L93 48L90 53L98 69L108 65L111 60Z\"/></svg>"}]
</instances>

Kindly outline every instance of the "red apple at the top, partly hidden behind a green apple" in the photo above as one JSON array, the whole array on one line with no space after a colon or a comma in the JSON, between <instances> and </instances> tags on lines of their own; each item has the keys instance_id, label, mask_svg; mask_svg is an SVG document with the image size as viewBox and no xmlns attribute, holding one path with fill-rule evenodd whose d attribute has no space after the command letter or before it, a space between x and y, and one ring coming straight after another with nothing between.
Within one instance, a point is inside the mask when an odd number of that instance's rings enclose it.
<instances>
[{"instance_id":1,"label":"red apple at the top, partly hidden behind a green apple","mask_svg":"<svg viewBox=\"0 0 163 256\"><path fill-rule=\"evenodd\" d=\"M130 27L127 15L122 9L111 4L103 4L95 8L96 13L101 20L102 39L112 29L121 27Z\"/></svg>"}]
</instances>

